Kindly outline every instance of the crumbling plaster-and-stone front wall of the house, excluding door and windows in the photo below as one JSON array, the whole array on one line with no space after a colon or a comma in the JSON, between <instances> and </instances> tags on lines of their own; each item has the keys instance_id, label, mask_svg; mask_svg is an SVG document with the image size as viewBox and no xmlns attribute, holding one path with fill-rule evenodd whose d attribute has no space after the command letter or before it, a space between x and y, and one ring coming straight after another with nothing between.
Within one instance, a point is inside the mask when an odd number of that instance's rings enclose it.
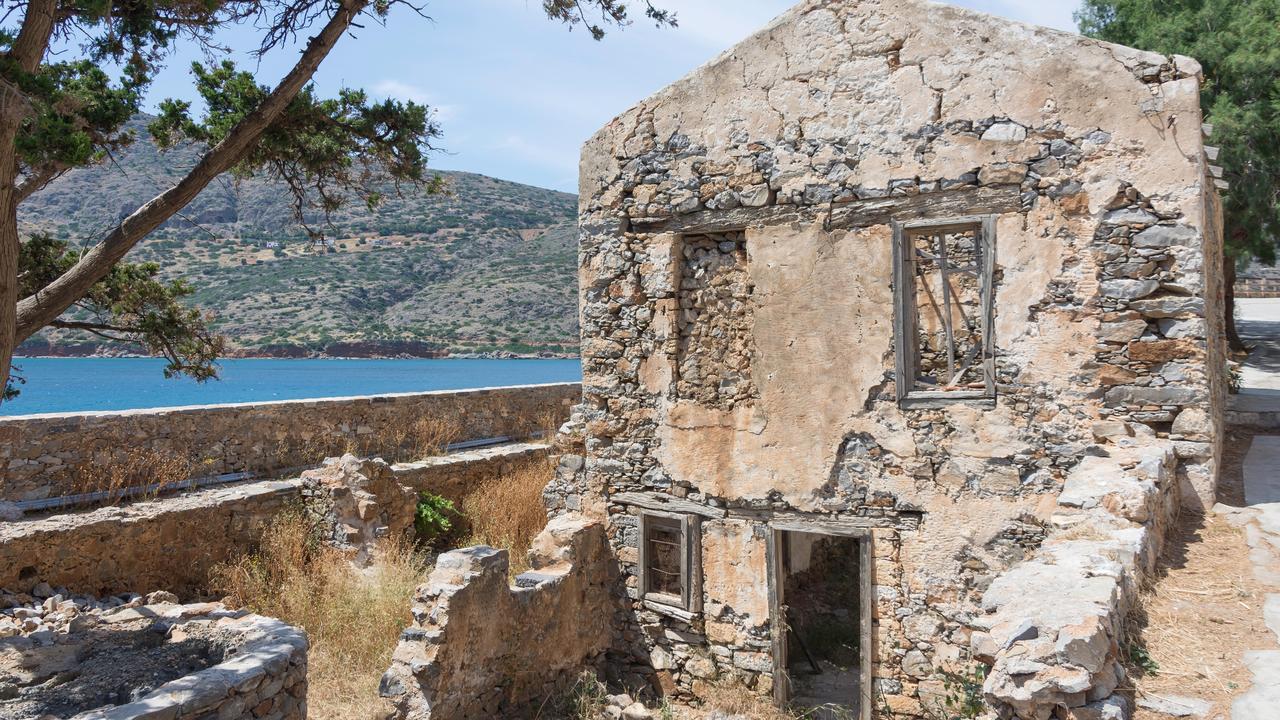
<instances>
[{"instance_id":1,"label":"crumbling plaster-and-stone front wall of the house, excluding door and windows","mask_svg":"<svg viewBox=\"0 0 1280 720\"><path fill-rule=\"evenodd\" d=\"M1220 287L1198 90L1185 58L920 1L813 0L618 117L580 176L580 484L878 527L877 692L918 711L1098 438L1138 421L1180 439L1184 497L1212 502ZM998 214L998 400L901 410L887 220L966 197ZM845 208L876 219L837 227ZM753 286L758 397L732 406L673 392L696 278L666 228L717 217L745 224ZM710 675L767 691L768 664L740 655L767 650L756 614L710 591L700 618L645 607L635 509L609 512L634 600L620 671L696 694L709 657ZM721 568L707 544L708 588L764 592L758 568ZM708 638L726 618L733 639Z\"/></svg>"}]
</instances>

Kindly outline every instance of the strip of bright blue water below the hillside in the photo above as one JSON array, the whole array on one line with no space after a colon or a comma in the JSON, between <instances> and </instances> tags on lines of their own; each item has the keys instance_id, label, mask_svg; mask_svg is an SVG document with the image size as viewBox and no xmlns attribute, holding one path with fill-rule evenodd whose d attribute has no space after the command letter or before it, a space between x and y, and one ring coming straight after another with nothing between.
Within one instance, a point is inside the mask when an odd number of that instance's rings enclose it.
<instances>
[{"instance_id":1,"label":"strip of bright blue water below the hillside","mask_svg":"<svg viewBox=\"0 0 1280 720\"><path fill-rule=\"evenodd\" d=\"M0 415L259 402L577 382L577 360L223 360L221 379L165 379L152 357L18 357L17 400Z\"/></svg>"}]
</instances>

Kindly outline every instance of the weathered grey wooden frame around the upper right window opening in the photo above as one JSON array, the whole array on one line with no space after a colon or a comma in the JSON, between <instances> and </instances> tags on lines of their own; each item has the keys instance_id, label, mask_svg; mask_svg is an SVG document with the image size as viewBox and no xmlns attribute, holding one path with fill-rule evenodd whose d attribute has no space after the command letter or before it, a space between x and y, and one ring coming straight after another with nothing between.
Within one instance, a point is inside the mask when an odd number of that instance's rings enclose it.
<instances>
[{"instance_id":1,"label":"weathered grey wooden frame around the upper right window opening","mask_svg":"<svg viewBox=\"0 0 1280 720\"><path fill-rule=\"evenodd\" d=\"M942 407L956 402L995 406L996 343L995 343L995 274L996 215L970 215L892 222L893 229L893 345L895 377L899 405L905 409ZM915 247L911 236L922 231L941 233L972 229L979 245L978 284L982 302L982 375L986 388L974 391L916 389L916 355L919 354L919 310L915 305ZM946 270L943 270L946 277Z\"/></svg>"}]
</instances>

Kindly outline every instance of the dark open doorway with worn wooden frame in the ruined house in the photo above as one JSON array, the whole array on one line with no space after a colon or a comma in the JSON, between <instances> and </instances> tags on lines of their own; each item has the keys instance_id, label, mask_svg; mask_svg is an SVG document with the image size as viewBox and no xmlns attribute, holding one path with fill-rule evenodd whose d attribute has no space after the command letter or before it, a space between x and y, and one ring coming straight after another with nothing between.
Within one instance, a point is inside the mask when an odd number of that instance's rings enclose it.
<instances>
[{"instance_id":1,"label":"dark open doorway with worn wooden frame in the ruined house","mask_svg":"<svg viewBox=\"0 0 1280 720\"><path fill-rule=\"evenodd\" d=\"M776 529L773 550L778 698L815 720L869 716L869 538Z\"/></svg>"}]
</instances>

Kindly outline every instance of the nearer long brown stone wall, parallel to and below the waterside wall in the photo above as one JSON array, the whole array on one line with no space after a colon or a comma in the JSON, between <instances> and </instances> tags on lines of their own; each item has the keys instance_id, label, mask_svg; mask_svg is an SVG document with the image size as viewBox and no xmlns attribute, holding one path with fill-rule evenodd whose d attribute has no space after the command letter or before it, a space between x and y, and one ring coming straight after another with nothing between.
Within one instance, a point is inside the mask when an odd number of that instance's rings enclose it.
<instances>
[{"instance_id":1,"label":"nearer long brown stone wall, parallel to and below the waterside wall","mask_svg":"<svg viewBox=\"0 0 1280 720\"><path fill-rule=\"evenodd\" d=\"M397 480L447 497L545 456L516 443L393 465ZM265 480L0 523L0 588L37 582L73 592L202 591L216 564L252 550L270 519L301 498L302 480Z\"/></svg>"}]
</instances>

